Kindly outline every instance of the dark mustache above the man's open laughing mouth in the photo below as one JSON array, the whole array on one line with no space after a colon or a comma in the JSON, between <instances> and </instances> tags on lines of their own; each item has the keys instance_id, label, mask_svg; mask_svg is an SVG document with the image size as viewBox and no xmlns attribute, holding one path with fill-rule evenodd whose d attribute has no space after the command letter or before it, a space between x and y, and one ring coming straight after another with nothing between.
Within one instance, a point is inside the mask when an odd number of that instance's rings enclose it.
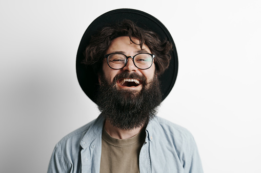
<instances>
[{"instance_id":1,"label":"dark mustache above the man's open laughing mouth","mask_svg":"<svg viewBox=\"0 0 261 173\"><path fill-rule=\"evenodd\" d=\"M137 72L131 72L130 73L130 72L127 72L127 71L124 71L122 73L117 74L113 78L113 85L116 84L116 82L119 79L122 79L122 78L137 79L137 80L142 82L143 86L147 85L147 79L146 79L146 77L144 75L139 75Z\"/></svg>"}]
</instances>

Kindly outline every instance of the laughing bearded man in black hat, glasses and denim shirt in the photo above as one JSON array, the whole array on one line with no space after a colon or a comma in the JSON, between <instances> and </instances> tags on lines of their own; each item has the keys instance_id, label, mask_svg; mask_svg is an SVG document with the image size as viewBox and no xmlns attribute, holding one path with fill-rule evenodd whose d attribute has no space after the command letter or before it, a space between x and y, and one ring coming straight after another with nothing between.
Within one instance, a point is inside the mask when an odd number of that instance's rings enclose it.
<instances>
[{"instance_id":1,"label":"laughing bearded man in black hat, glasses and denim shirt","mask_svg":"<svg viewBox=\"0 0 261 173\"><path fill-rule=\"evenodd\" d=\"M192 135L155 116L177 75L160 21L132 9L103 14L82 38L76 69L102 113L56 144L48 172L203 172Z\"/></svg>"}]
</instances>

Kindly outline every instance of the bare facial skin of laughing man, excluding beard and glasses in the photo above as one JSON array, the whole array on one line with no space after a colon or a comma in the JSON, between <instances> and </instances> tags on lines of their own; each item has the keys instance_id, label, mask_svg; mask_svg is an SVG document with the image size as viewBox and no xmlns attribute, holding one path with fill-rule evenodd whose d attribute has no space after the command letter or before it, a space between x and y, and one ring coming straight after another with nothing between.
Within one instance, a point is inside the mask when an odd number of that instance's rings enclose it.
<instances>
[{"instance_id":1,"label":"bare facial skin of laughing man, excluding beard and glasses","mask_svg":"<svg viewBox=\"0 0 261 173\"><path fill-rule=\"evenodd\" d=\"M129 37L127 36L123 36L123 37L117 37L114 40L112 40L111 45L109 46L106 54L111 54L111 53L122 53L125 54L126 56L134 56L138 53L150 53L151 51L149 49L149 47L145 44L143 44L142 50L140 50L140 46L137 45L139 43L139 40L136 38L132 38L132 41L135 42L136 44L132 43L129 39ZM155 72L155 64L153 62L152 66L148 69L138 69L131 58L129 58L128 63L126 64L126 66L122 69L112 69L109 67L109 65L107 64L107 59L105 58L103 61L103 72L104 72L104 76L105 79L109 82L109 83L113 83L113 79L116 75L119 75L123 72L136 72L139 76L144 76L146 78L147 83L151 83L151 81L153 80L154 77L154 72ZM129 78L128 78L129 79ZM138 81L139 84L136 85L126 85L126 83L123 83L124 79L118 79L116 81L116 88L117 89L129 89L129 90L133 90L133 91L140 91L142 90L142 82L143 81ZM137 81L136 81L137 83Z\"/></svg>"}]
</instances>

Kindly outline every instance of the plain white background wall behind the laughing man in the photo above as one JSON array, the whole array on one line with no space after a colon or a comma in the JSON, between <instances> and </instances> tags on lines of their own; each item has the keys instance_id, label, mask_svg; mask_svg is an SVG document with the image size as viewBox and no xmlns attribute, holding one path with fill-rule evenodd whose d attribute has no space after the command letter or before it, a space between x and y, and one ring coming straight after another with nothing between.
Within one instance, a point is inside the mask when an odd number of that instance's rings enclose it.
<instances>
[{"instance_id":1,"label":"plain white background wall behind the laughing man","mask_svg":"<svg viewBox=\"0 0 261 173\"><path fill-rule=\"evenodd\" d=\"M46 172L54 145L99 114L75 58L89 24L152 14L179 58L159 116L194 136L205 172L261 172L261 1L1 1L0 172Z\"/></svg>"}]
</instances>

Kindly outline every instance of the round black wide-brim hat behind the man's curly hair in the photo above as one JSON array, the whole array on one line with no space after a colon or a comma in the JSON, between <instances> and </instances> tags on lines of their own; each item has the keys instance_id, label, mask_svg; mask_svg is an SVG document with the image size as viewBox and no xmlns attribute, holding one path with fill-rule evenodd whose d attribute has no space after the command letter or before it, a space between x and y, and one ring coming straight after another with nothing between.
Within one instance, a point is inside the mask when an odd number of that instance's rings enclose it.
<instances>
[{"instance_id":1,"label":"round black wide-brim hat behind the man's curly hair","mask_svg":"<svg viewBox=\"0 0 261 173\"><path fill-rule=\"evenodd\" d=\"M177 77L178 59L176 47L169 31L162 22L148 13L134 9L116 9L104 13L97 17L87 28L79 44L76 57L76 73L79 85L85 94L95 103L95 96L98 89L98 76L93 71L91 65L82 63L85 58L84 52L92 35L97 34L98 31L101 31L101 29L108 24L114 24L123 19L132 20L138 27L153 31L159 35L160 39L167 39L172 43L173 50L170 53L171 60L169 67L158 77L161 84L160 89L163 94L162 98L164 100L174 86Z\"/></svg>"}]
</instances>

